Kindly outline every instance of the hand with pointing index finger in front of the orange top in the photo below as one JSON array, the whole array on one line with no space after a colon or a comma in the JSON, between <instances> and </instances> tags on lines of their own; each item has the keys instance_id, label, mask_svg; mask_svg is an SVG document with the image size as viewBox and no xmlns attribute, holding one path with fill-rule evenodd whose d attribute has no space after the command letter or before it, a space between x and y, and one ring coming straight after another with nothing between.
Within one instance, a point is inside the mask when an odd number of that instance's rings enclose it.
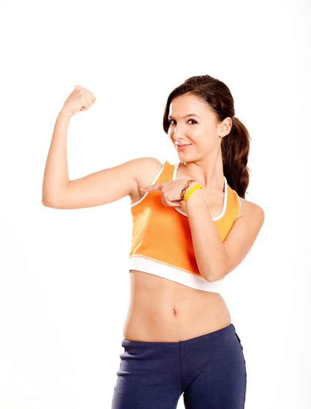
<instances>
[{"instance_id":1,"label":"hand with pointing index finger in front of the orange top","mask_svg":"<svg viewBox=\"0 0 311 409\"><path fill-rule=\"evenodd\" d=\"M139 190L143 192L152 192L154 190L159 190L162 195L162 203L164 204L164 206L182 207L181 202L183 199L181 199L180 197L183 187L188 180L189 179L170 180L168 182L146 186L144 188L140 188Z\"/></svg>"}]
</instances>

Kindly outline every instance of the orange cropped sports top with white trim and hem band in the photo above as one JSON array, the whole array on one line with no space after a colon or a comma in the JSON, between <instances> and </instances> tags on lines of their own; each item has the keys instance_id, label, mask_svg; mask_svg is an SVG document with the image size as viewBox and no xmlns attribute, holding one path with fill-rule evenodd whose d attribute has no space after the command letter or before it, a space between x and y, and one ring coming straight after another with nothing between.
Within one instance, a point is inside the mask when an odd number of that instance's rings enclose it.
<instances>
[{"instance_id":1,"label":"orange cropped sports top with white trim and hem band","mask_svg":"<svg viewBox=\"0 0 311 409\"><path fill-rule=\"evenodd\" d=\"M178 165L167 160L151 185L175 180ZM225 180L224 203L221 213L213 218L224 241L241 204L245 200ZM175 281L187 287L219 293L221 278L207 281L196 264L187 213L179 207L164 206L161 192L146 192L130 205L132 215L132 239L128 256L129 270L139 270Z\"/></svg>"}]
</instances>

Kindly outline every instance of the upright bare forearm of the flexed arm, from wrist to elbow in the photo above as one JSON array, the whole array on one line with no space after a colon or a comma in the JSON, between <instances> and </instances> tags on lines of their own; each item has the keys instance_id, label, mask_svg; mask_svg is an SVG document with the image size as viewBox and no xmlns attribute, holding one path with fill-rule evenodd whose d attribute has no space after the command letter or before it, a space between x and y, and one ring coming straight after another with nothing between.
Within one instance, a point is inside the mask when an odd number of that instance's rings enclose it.
<instances>
[{"instance_id":1,"label":"upright bare forearm of the flexed arm, from wrist to elbow","mask_svg":"<svg viewBox=\"0 0 311 409\"><path fill-rule=\"evenodd\" d=\"M55 122L43 176L42 203L44 205L56 204L69 183L67 161L69 120L70 116L61 110Z\"/></svg>"}]
</instances>

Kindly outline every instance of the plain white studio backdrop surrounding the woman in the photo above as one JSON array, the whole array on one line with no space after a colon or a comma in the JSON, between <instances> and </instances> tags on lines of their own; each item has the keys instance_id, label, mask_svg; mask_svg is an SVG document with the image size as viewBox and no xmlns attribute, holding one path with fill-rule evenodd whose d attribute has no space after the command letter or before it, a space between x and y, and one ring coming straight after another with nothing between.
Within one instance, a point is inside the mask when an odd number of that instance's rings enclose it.
<instances>
[{"instance_id":1,"label":"plain white studio backdrop surrounding the woman","mask_svg":"<svg viewBox=\"0 0 311 409\"><path fill-rule=\"evenodd\" d=\"M164 105L202 74L231 90L251 137L246 199L265 212L221 290L244 347L245 408L311 407L310 8L2 3L1 409L109 409L123 352L129 197L71 210L41 202L62 103L77 84L97 98L69 123L70 180L135 157L174 163Z\"/></svg>"}]
</instances>

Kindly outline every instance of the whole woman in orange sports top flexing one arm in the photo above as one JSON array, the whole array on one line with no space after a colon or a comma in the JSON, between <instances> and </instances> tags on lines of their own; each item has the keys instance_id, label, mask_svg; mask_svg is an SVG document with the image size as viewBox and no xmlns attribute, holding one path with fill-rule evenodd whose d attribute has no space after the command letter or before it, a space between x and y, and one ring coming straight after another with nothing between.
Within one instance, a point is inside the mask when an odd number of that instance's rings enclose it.
<instances>
[{"instance_id":1,"label":"whole woman in orange sports top flexing one arm","mask_svg":"<svg viewBox=\"0 0 311 409\"><path fill-rule=\"evenodd\" d=\"M43 204L64 209L131 198L131 297L112 409L174 409L182 394L186 409L242 409L246 362L219 289L248 254L264 212L245 200L250 138L230 90L201 75L171 92L163 128L176 164L143 157L69 181L69 118L95 100L77 86L64 102Z\"/></svg>"}]
</instances>

